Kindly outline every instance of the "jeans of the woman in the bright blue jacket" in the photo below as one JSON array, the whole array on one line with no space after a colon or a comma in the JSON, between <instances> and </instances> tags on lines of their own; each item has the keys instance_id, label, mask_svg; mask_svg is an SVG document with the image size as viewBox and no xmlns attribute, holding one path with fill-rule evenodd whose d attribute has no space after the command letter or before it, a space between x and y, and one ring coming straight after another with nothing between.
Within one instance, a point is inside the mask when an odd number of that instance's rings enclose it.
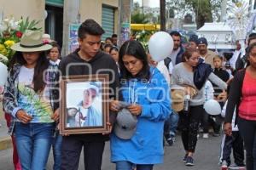
<instances>
[{"instance_id":1,"label":"jeans of the woman in the bright blue jacket","mask_svg":"<svg viewBox=\"0 0 256 170\"><path fill-rule=\"evenodd\" d=\"M137 170L153 170L153 164L135 165L130 161L116 161L116 170L132 170L136 167Z\"/></svg>"}]
</instances>

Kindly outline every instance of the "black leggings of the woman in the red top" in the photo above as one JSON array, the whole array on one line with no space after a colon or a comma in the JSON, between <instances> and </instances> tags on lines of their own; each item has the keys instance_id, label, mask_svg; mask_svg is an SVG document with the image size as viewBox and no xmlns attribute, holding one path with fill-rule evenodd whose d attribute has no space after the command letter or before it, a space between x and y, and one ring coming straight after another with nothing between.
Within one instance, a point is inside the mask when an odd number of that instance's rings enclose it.
<instances>
[{"instance_id":1,"label":"black leggings of the woman in the red top","mask_svg":"<svg viewBox=\"0 0 256 170\"><path fill-rule=\"evenodd\" d=\"M256 121L239 117L238 127L247 150L247 170L256 170Z\"/></svg>"}]
</instances>

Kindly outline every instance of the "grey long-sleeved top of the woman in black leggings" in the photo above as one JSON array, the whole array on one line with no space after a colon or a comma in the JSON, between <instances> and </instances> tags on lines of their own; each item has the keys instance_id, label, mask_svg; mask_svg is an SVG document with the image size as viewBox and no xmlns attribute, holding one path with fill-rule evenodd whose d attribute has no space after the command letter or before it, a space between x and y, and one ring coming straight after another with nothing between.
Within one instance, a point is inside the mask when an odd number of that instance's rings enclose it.
<instances>
[{"instance_id":1,"label":"grey long-sleeved top of the woman in black leggings","mask_svg":"<svg viewBox=\"0 0 256 170\"><path fill-rule=\"evenodd\" d=\"M193 81L194 73L188 71L183 62L179 63L174 66L172 70L172 77L171 77L171 87L174 86L182 86L182 85L189 85L195 87ZM211 73L208 77L208 80L216 84L221 89L227 89L226 82L223 82L219 77L217 77L214 73ZM203 105L205 102L204 96L204 88L205 85L201 88L201 90L197 91L197 94L190 100L190 105Z\"/></svg>"}]
</instances>

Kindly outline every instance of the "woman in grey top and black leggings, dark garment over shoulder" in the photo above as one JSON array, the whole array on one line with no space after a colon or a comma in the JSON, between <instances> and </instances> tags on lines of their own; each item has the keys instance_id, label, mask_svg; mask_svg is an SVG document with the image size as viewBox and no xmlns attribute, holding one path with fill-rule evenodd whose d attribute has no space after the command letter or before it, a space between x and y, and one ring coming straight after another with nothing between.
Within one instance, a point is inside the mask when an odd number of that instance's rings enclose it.
<instances>
[{"instance_id":1,"label":"woman in grey top and black leggings, dark garment over shoulder","mask_svg":"<svg viewBox=\"0 0 256 170\"><path fill-rule=\"evenodd\" d=\"M202 77L199 77L200 73ZM200 59L200 54L196 49L187 50L183 54L183 62L175 65L172 71L172 87L183 87L186 95L187 103L185 104L187 105L184 105L183 111L179 114L183 147L186 152L183 161L186 166L195 164L192 156L195 153L199 123L204 112L204 86L207 79L220 88L227 88L227 84L212 73L211 66Z\"/></svg>"}]
</instances>

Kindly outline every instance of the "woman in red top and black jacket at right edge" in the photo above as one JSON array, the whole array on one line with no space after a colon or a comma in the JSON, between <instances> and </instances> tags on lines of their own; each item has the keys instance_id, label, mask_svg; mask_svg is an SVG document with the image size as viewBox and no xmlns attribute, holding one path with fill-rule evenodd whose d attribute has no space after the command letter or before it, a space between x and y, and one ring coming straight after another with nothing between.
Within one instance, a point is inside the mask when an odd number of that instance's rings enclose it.
<instances>
[{"instance_id":1,"label":"woman in red top and black jacket at right edge","mask_svg":"<svg viewBox=\"0 0 256 170\"><path fill-rule=\"evenodd\" d=\"M230 85L230 94L224 119L224 133L232 135L232 117L236 108L236 123L246 149L247 170L256 169L256 42L247 50L247 68L237 71Z\"/></svg>"}]
</instances>

